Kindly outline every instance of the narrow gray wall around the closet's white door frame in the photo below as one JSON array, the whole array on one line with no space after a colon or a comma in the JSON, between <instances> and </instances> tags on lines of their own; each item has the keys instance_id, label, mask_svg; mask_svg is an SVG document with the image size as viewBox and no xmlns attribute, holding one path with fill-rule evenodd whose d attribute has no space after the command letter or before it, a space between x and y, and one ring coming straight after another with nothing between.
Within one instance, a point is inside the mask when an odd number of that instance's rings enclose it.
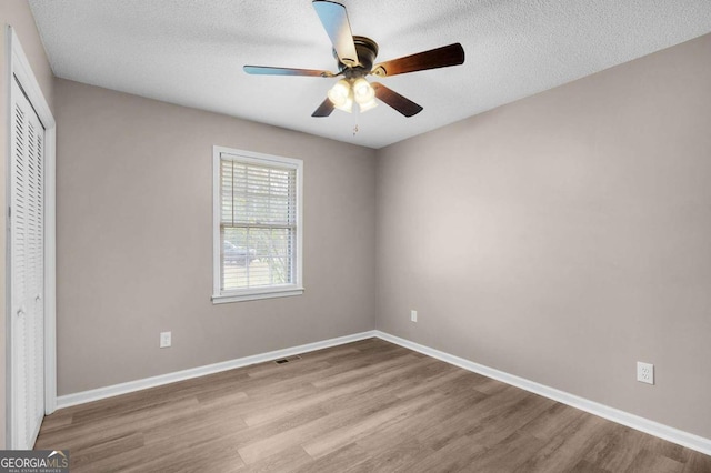
<instances>
[{"instance_id":1,"label":"narrow gray wall around the closet's white door frame","mask_svg":"<svg viewBox=\"0 0 711 473\"><path fill-rule=\"evenodd\" d=\"M7 129L8 129L8 107L6 88L6 43L4 43L4 27L10 24L22 44L22 49L30 61L37 81L42 89L44 99L52 107L52 71L49 67L47 56L44 54L44 48L40 40L37 27L34 26L34 19L30 11L30 7L26 0L2 0L0 1L0 26L2 32L0 32L0 149L2 154L6 155L7 142ZM7 155L4 160L7 161ZM6 165L0 165L0 209L4 209L6 202ZM6 444L6 336L7 336L7 319L6 319L6 230L3 219L3 230L0 232L0 447Z\"/></svg>"}]
</instances>

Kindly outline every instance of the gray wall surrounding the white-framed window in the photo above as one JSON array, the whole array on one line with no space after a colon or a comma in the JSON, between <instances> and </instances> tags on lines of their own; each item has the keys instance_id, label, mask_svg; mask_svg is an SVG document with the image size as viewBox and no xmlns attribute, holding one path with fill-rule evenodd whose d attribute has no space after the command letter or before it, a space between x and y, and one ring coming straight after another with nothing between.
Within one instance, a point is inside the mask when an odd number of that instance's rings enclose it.
<instances>
[{"instance_id":1,"label":"gray wall surrounding the white-framed window","mask_svg":"<svg viewBox=\"0 0 711 473\"><path fill-rule=\"evenodd\" d=\"M54 87L59 395L373 329L373 150ZM303 295L210 301L213 144L303 160Z\"/></svg>"}]
</instances>

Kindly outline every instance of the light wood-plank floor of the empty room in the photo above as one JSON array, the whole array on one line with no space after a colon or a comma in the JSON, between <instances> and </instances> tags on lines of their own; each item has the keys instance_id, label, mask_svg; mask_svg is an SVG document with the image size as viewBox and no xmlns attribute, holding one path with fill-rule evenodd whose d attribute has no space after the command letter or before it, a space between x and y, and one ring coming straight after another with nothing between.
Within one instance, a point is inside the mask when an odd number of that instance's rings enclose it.
<instances>
[{"instance_id":1,"label":"light wood-plank floor of the empty room","mask_svg":"<svg viewBox=\"0 0 711 473\"><path fill-rule=\"evenodd\" d=\"M378 339L60 410L79 472L711 472L711 456Z\"/></svg>"}]
</instances>

